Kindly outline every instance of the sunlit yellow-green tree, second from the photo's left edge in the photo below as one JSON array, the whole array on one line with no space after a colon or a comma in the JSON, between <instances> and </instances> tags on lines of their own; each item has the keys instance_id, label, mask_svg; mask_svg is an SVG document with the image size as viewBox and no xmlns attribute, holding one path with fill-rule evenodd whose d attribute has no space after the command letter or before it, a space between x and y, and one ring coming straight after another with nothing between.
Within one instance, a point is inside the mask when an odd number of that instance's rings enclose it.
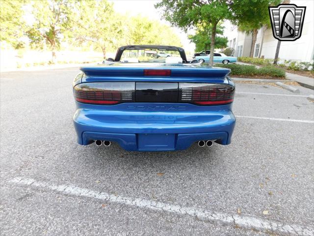
<instances>
[{"instance_id":1,"label":"sunlit yellow-green tree, second from the photo's left edge","mask_svg":"<svg viewBox=\"0 0 314 236\"><path fill-rule=\"evenodd\" d=\"M32 1L35 22L26 34L32 46L42 49L47 45L51 49L52 63L60 40L71 32L73 3L71 0Z\"/></svg>"}]
</instances>

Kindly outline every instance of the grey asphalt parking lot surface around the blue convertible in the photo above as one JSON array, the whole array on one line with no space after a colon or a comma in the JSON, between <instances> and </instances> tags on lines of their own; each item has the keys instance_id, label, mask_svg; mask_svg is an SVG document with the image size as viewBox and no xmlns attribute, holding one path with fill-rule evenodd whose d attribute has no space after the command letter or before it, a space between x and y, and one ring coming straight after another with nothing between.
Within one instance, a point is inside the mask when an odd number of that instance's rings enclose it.
<instances>
[{"instance_id":1,"label":"grey asphalt parking lot surface around the blue convertible","mask_svg":"<svg viewBox=\"0 0 314 236\"><path fill-rule=\"evenodd\" d=\"M78 68L0 79L0 234L313 235L313 90L236 84L233 142L79 146Z\"/></svg>"}]
</instances>

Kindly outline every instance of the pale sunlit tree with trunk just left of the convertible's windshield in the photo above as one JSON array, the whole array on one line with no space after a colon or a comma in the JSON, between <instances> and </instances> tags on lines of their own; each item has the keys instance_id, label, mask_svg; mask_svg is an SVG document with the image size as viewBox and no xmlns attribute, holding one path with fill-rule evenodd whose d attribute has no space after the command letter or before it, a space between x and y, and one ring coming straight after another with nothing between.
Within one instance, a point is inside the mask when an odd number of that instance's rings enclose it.
<instances>
[{"instance_id":1,"label":"pale sunlit tree with trunk just left of the convertible's windshield","mask_svg":"<svg viewBox=\"0 0 314 236\"><path fill-rule=\"evenodd\" d=\"M89 42L95 49L101 49L105 59L108 50L120 46L124 31L121 18L106 0L79 1L74 27L76 42Z\"/></svg>"}]
</instances>

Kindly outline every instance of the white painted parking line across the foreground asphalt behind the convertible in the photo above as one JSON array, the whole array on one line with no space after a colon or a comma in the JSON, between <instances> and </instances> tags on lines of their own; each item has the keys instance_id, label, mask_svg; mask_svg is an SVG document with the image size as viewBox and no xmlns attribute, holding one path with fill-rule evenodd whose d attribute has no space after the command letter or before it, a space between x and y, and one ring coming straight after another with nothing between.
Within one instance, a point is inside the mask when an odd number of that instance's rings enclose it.
<instances>
[{"instance_id":1,"label":"white painted parking line across the foreground asphalt behind the convertible","mask_svg":"<svg viewBox=\"0 0 314 236\"><path fill-rule=\"evenodd\" d=\"M274 232L287 235L314 235L314 229L311 226L288 225L280 222L258 218L257 216L228 214L223 212L208 211L205 209L197 209L194 207L182 207L176 204L162 203L141 198L120 197L105 192L93 191L86 188L79 188L71 185L50 185L45 182L39 182L31 178L16 177L8 181L8 183L18 184L22 186L32 186L35 188L48 189L77 197L95 198L111 203L125 204L132 207L147 208L158 211L167 211L176 214L189 215L198 217L206 221L220 221L227 224L236 225L238 227L255 229L262 232Z\"/></svg>"}]
</instances>

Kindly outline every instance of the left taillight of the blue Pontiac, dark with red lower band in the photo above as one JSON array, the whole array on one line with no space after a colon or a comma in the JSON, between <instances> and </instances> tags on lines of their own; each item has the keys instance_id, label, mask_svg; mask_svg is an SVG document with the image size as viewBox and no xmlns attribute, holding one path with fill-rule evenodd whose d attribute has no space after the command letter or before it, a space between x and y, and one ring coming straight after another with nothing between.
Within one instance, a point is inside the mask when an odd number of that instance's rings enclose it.
<instances>
[{"instance_id":1,"label":"left taillight of the blue Pontiac, dark with red lower band","mask_svg":"<svg viewBox=\"0 0 314 236\"><path fill-rule=\"evenodd\" d=\"M74 96L78 102L100 105L113 105L122 102L134 102L134 82L94 82L74 87Z\"/></svg>"}]
</instances>

